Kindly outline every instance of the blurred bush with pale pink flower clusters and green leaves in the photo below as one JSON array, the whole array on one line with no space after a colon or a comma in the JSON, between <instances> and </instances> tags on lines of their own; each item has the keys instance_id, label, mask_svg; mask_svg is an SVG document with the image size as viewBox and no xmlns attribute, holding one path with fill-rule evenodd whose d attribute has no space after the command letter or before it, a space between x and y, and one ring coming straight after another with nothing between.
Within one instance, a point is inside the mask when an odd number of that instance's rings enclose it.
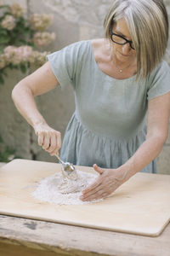
<instances>
[{"instance_id":1,"label":"blurred bush with pale pink flower clusters and green leaves","mask_svg":"<svg viewBox=\"0 0 170 256\"><path fill-rule=\"evenodd\" d=\"M42 47L54 41L54 32L46 32L52 23L51 15L33 14L26 18L19 3L0 6L0 84L4 84L7 67L26 73L33 65L40 67L46 61L47 51Z\"/></svg>"}]
</instances>

